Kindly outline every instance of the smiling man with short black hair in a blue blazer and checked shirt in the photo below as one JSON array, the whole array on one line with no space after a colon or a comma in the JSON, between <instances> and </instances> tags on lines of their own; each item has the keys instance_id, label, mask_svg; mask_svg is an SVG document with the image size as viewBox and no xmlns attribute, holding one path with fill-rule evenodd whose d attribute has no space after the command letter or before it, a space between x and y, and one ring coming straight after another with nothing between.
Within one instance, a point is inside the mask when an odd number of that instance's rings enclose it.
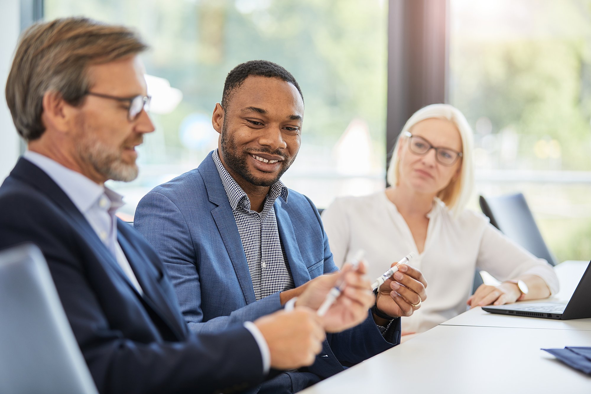
<instances>
[{"instance_id":1,"label":"smiling man with short black hair in a blue blazer and checked shirt","mask_svg":"<svg viewBox=\"0 0 591 394\"><path fill-rule=\"evenodd\" d=\"M287 70L262 60L240 64L213 112L219 148L139 202L135 227L164 260L191 331L275 311L337 270L316 207L279 180L300 147L303 112ZM397 344L398 317L426 298L418 270L405 267L398 282L382 286L360 325L328 334L312 366L260 391L296 392Z\"/></svg>"}]
</instances>

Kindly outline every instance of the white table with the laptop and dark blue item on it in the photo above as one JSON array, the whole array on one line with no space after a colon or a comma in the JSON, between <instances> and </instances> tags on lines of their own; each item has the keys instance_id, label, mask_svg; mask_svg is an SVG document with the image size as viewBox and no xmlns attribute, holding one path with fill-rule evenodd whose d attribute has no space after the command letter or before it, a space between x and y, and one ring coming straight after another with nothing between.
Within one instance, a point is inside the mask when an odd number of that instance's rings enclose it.
<instances>
[{"instance_id":1,"label":"white table with the laptop and dark blue item on it","mask_svg":"<svg viewBox=\"0 0 591 394\"><path fill-rule=\"evenodd\" d=\"M570 297L587 263L556 267L561 291L554 299ZM301 393L591 393L590 376L540 350L565 346L591 346L591 319L473 308Z\"/></svg>"}]
</instances>

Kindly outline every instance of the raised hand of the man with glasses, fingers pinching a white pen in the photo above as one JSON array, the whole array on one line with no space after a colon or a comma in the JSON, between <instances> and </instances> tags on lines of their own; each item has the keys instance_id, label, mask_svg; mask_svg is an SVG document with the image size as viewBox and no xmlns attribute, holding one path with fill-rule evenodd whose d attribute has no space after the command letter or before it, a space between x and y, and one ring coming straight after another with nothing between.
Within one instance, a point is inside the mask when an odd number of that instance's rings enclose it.
<instances>
[{"instance_id":1,"label":"raised hand of the man with glasses, fingers pinching a white pen","mask_svg":"<svg viewBox=\"0 0 591 394\"><path fill-rule=\"evenodd\" d=\"M340 273L316 277L308 282L307 288L298 297L296 306L318 309L330 289L342 278L345 289L322 317L323 327L327 332L340 332L355 327L368 317L368 309L374 305L371 283L366 279L365 272L366 265L362 262L357 270L352 270L351 264L345 264Z\"/></svg>"}]
</instances>

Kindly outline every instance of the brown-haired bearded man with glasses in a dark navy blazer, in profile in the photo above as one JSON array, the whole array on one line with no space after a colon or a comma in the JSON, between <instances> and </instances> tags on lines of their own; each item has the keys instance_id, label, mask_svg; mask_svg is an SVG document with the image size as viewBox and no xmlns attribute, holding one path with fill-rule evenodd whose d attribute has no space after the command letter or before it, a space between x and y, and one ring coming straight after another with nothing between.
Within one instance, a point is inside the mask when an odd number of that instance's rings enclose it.
<instances>
[{"instance_id":1,"label":"brown-haired bearded man with glasses in a dark navy blazer, in profile","mask_svg":"<svg viewBox=\"0 0 591 394\"><path fill-rule=\"evenodd\" d=\"M6 95L28 150L0 186L0 249L41 248L99 392L231 392L262 382L269 367L311 364L324 340L311 309L190 332L161 260L115 217L122 199L104 182L137 176L135 147L154 131L137 56L145 49L127 28L85 18L24 33ZM363 283L345 279L353 296L335 308L361 299Z\"/></svg>"}]
</instances>

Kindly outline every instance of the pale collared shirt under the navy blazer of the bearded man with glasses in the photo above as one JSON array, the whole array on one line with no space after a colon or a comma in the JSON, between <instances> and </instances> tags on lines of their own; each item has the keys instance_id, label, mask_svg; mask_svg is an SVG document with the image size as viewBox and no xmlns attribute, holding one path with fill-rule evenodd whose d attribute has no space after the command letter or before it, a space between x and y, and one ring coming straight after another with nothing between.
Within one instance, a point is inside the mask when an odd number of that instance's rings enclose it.
<instances>
[{"instance_id":1,"label":"pale collared shirt under the navy blazer of the bearded man with glasses","mask_svg":"<svg viewBox=\"0 0 591 394\"><path fill-rule=\"evenodd\" d=\"M42 154L27 150L23 157L47 173L60 186L111 251L134 288L143 295L138 279L117 241L115 212L124 205L122 196Z\"/></svg>"}]
</instances>

